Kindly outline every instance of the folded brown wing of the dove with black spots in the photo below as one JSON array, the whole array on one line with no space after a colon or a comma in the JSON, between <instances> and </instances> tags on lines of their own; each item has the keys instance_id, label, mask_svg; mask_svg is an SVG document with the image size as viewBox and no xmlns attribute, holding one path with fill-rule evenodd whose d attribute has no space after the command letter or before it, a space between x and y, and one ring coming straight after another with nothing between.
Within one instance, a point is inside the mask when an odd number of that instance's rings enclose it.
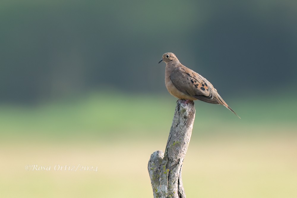
<instances>
[{"instance_id":1,"label":"folded brown wing of the dove with black spots","mask_svg":"<svg viewBox=\"0 0 297 198\"><path fill-rule=\"evenodd\" d=\"M204 102L220 104L214 97L214 88L210 82L195 71L181 65L170 74L170 79L176 88L186 95Z\"/></svg>"}]
</instances>

